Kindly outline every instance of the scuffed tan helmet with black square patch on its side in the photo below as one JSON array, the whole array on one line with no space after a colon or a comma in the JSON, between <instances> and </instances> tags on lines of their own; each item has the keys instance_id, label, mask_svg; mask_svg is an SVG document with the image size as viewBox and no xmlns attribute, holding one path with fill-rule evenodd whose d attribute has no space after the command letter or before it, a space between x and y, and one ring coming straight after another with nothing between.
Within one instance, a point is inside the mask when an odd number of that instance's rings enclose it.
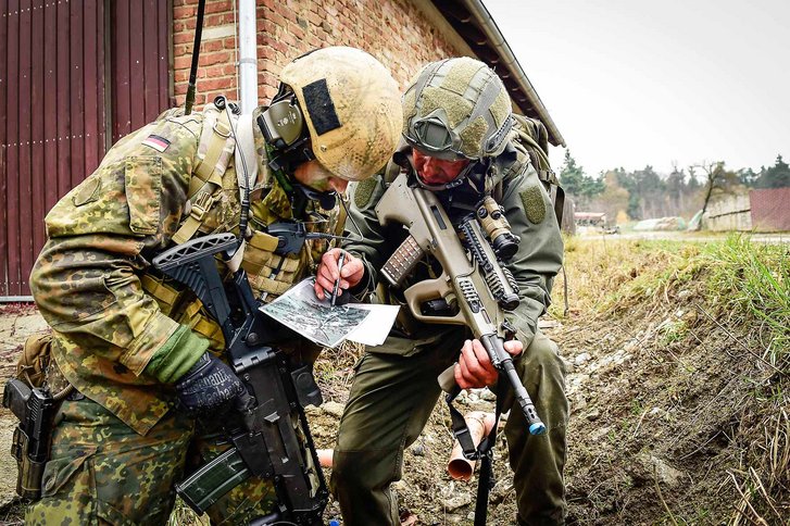
<instances>
[{"instance_id":1,"label":"scuffed tan helmet with black square patch on its side","mask_svg":"<svg viewBox=\"0 0 790 526\"><path fill-rule=\"evenodd\" d=\"M286 65L279 79L297 96L313 154L333 175L366 179L390 159L403 110L398 84L376 59L354 48L324 48Z\"/></svg>"}]
</instances>

